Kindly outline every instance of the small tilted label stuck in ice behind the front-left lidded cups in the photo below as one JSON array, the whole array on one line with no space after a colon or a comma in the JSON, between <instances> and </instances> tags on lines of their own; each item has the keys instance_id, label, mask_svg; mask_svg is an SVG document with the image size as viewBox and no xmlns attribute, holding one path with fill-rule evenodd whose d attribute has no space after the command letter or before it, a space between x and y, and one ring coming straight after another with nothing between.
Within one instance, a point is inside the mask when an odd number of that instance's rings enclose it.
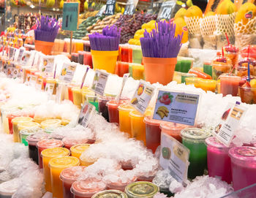
<instances>
[{"instance_id":1,"label":"small tilted label stuck in ice behind the front-left lidded cups","mask_svg":"<svg viewBox=\"0 0 256 198\"><path fill-rule=\"evenodd\" d=\"M81 108L81 111L78 117L78 124L82 125L83 127L88 126L88 123L91 119L91 116L94 110L95 110L94 105L88 102L85 102L83 104L83 107Z\"/></svg>"}]
</instances>

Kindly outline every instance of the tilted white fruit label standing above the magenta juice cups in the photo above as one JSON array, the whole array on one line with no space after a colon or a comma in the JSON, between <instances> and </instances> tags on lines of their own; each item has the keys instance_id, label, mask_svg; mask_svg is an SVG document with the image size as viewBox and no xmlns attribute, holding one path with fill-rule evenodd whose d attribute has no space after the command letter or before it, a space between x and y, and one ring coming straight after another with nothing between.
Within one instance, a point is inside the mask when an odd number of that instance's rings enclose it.
<instances>
[{"instance_id":1,"label":"tilted white fruit label standing above the magenta juice cups","mask_svg":"<svg viewBox=\"0 0 256 198\"><path fill-rule=\"evenodd\" d=\"M239 126L241 118L244 117L247 108L240 105L240 102L236 104L229 103L225 109L225 113L222 115L222 121L217 125L214 130L214 135L226 146L230 145L233 140L234 132Z\"/></svg>"}]
</instances>

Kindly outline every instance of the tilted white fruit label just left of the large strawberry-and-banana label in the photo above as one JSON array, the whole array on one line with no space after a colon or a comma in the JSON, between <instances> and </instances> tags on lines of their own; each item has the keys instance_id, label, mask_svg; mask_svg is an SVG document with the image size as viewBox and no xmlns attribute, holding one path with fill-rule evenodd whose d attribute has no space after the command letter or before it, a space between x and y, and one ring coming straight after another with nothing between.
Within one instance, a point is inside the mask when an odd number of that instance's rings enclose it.
<instances>
[{"instance_id":1,"label":"tilted white fruit label just left of the large strawberry-and-banana label","mask_svg":"<svg viewBox=\"0 0 256 198\"><path fill-rule=\"evenodd\" d=\"M154 94L154 86L146 83L144 80L140 80L138 88L135 91L135 95L132 97L131 104L140 113L144 114L149 102Z\"/></svg>"}]
</instances>

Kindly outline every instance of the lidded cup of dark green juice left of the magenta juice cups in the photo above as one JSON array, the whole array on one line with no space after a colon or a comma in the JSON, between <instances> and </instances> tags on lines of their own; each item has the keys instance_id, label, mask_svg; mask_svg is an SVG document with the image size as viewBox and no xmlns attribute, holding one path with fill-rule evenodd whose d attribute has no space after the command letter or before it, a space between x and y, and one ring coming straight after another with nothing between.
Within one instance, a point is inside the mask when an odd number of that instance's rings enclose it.
<instances>
[{"instance_id":1,"label":"lidded cup of dark green juice left of the magenta juice cups","mask_svg":"<svg viewBox=\"0 0 256 198\"><path fill-rule=\"evenodd\" d=\"M207 149L205 140L211 133L203 129L190 128L181 131L182 144L189 148L189 170L188 178L194 179L203 175L207 166Z\"/></svg>"}]
</instances>

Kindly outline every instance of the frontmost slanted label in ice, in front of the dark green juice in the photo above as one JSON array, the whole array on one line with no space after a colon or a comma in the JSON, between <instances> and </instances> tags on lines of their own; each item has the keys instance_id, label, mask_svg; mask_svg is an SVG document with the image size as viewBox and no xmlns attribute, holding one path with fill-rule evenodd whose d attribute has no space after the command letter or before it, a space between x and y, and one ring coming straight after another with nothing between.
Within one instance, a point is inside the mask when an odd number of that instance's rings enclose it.
<instances>
[{"instance_id":1,"label":"frontmost slanted label in ice, in front of the dark green juice","mask_svg":"<svg viewBox=\"0 0 256 198\"><path fill-rule=\"evenodd\" d=\"M164 170L168 169L179 183L184 183L189 167L189 149L170 135L162 133L159 164Z\"/></svg>"}]
</instances>

